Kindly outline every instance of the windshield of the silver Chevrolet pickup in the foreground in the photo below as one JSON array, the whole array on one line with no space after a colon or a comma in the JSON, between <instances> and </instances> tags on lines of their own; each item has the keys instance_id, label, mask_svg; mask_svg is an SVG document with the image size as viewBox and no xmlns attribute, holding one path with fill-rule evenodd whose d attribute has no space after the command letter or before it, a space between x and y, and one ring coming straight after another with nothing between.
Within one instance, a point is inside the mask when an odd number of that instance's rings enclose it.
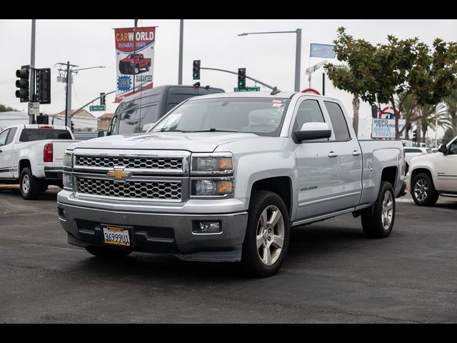
<instances>
[{"instance_id":1,"label":"windshield of the silver Chevrolet pickup in the foreground","mask_svg":"<svg viewBox=\"0 0 457 343\"><path fill-rule=\"evenodd\" d=\"M169 112L151 129L159 131L231 131L279 136L290 99L194 99Z\"/></svg>"}]
</instances>

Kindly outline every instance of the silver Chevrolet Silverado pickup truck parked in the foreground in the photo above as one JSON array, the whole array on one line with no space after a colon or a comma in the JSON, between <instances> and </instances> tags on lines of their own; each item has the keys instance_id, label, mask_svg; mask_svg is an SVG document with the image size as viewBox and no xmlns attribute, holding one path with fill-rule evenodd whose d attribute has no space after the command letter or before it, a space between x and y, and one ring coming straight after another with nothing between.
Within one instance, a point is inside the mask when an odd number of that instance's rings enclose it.
<instances>
[{"instance_id":1,"label":"silver Chevrolet Silverado pickup truck parked in the foreground","mask_svg":"<svg viewBox=\"0 0 457 343\"><path fill-rule=\"evenodd\" d=\"M269 276L291 227L352 212L388 237L404 194L401 141L358 141L343 105L303 93L188 99L146 134L69 146L59 219L98 257L161 252Z\"/></svg>"}]
</instances>

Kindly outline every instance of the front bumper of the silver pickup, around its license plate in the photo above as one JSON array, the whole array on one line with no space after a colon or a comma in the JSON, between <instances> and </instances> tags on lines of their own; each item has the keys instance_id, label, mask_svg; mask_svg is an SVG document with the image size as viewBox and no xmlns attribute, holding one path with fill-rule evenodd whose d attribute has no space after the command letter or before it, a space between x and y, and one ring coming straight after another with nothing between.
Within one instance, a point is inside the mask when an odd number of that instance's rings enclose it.
<instances>
[{"instance_id":1,"label":"front bumper of the silver pickup, around its license plate","mask_svg":"<svg viewBox=\"0 0 457 343\"><path fill-rule=\"evenodd\" d=\"M241 261L247 212L226 214L178 214L141 211L112 211L57 202L59 219L70 244L106 246L101 226L129 227L136 252L173 254L180 259L211 262ZM194 234L194 222L220 221L219 234Z\"/></svg>"}]
</instances>

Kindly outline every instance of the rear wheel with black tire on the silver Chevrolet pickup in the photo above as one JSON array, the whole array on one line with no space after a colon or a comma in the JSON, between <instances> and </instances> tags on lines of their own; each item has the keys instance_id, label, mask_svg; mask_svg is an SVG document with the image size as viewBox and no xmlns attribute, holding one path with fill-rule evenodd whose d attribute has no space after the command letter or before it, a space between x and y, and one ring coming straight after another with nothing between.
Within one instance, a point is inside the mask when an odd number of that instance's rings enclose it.
<instances>
[{"instance_id":1,"label":"rear wheel with black tire on the silver Chevrolet pickup","mask_svg":"<svg viewBox=\"0 0 457 343\"><path fill-rule=\"evenodd\" d=\"M388 195L389 193L390 195ZM392 212L386 210L389 202L392 202ZM383 217L386 219L383 219ZM373 214L362 214L361 219L363 232L365 232L366 236L371 238L386 238L391 234L393 222L395 222L395 194L393 193L393 187L390 182L381 182L378 198L373 205Z\"/></svg>"}]
</instances>

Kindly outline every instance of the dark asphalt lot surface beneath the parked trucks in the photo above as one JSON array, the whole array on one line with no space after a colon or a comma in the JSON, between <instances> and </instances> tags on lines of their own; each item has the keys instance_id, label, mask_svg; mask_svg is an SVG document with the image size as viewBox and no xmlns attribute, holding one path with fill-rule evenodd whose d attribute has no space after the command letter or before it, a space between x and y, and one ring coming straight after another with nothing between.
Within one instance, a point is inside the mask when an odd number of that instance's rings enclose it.
<instances>
[{"instance_id":1,"label":"dark asphalt lot surface beneath the parked trucks","mask_svg":"<svg viewBox=\"0 0 457 343\"><path fill-rule=\"evenodd\" d=\"M0 322L456 322L457 201L397 199L387 239L351 214L292 229L281 271L134 253L104 261L66 242L51 188L0 188Z\"/></svg>"}]
</instances>

